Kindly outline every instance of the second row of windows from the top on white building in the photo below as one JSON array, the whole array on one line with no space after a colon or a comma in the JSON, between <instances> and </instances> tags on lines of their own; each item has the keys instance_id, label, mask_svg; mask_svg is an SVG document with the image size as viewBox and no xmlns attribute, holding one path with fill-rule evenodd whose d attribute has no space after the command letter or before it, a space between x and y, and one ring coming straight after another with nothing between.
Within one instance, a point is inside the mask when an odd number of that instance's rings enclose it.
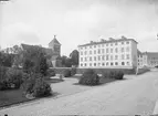
<instances>
[{"instance_id":1,"label":"second row of windows from the top on white building","mask_svg":"<svg viewBox=\"0 0 158 116\"><path fill-rule=\"evenodd\" d=\"M118 53L118 49L106 49L106 53ZM125 48L120 49L120 52L125 52ZM126 52L129 52L129 46L126 48ZM98 50L94 50L94 51L88 51L89 54L101 54L101 53L105 53L105 49L98 49ZM81 55L87 55L87 51L82 52L81 51Z\"/></svg>"}]
</instances>

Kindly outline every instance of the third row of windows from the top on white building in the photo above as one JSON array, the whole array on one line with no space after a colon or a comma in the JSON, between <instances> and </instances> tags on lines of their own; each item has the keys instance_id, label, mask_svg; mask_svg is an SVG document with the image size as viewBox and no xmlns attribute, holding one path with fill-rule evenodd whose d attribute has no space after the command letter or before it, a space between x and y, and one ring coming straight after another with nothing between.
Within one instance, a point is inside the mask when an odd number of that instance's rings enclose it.
<instances>
[{"instance_id":1,"label":"third row of windows from the top on white building","mask_svg":"<svg viewBox=\"0 0 158 116\"><path fill-rule=\"evenodd\" d=\"M126 57L125 57L125 56L126 56ZM126 60L129 60L130 57L129 57L129 54L126 54L126 55L122 54L122 55L120 55L120 59L122 59L122 60L125 60L125 59L126 59ZM106 60L106 61L108 61L108 60L112 60L112 61L113 61L113 60L118 60L118 55L115 55L115 56L113 56L113 55L106 55L106 56L103 55L103 56L94 56L94 57L89 56L88 60L89 60L89 61L101 61L101 60L102 60L102 61L105 61L105 60ZM81 62L83 62L83 61L87 61L87 57L81 57Z\"/></svg>"}]
</instances>

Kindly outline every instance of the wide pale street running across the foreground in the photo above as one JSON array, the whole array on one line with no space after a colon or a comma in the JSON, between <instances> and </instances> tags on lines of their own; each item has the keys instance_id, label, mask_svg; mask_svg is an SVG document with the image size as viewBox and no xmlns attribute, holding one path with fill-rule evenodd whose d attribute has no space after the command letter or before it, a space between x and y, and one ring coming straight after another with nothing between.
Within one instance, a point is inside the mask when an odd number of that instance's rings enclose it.
<instances>
[{"instance_id":1,"label":"wide pale street running across the foreground","mask_svg":"<svg viewBox=\"0 0 158 116\"><path fill-rule=\"evenodd\" d=\"M9 116L151 115L158 99L158 72L125 75L125 80L74 95L6 108Z\"/></svg>"}]
</instances>

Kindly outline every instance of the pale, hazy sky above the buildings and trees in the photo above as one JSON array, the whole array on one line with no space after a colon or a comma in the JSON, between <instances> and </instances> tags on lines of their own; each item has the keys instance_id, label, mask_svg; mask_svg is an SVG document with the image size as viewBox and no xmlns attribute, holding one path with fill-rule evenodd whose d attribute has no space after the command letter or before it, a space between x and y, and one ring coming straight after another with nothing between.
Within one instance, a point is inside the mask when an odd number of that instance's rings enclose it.
<instances>
[{"instance_id":1,"label":"pale, hazy sky above the buildings and trees","mask_svg":"<svg viewBox=\"0 0 158 116\"><path fill-rule=\"evenodd\" d=\"M0 46L39 44L54 34L61 54L77 45L122 35L141 52L158 52L158 0L10 0L0 4Z\"/></svg>"}]
</instances>

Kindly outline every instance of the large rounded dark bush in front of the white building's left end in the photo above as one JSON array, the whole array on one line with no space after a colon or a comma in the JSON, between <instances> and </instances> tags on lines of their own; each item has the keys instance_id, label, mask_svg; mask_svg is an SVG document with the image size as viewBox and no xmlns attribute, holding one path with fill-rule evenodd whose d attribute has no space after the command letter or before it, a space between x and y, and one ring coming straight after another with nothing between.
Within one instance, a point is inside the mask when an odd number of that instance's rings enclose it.
<instances>
[{"instance_id":1,"label":"large rounded dark bush in front of the white building's left end","mask_svg":"<svg viewBox=\"0 0 158 116\"><path fill-rule=\"evenodd\" d=\"M78 83L83 85L98 85L99 77L93 70L88 68L83 73Z\"/></svg>"}]
</instances>

